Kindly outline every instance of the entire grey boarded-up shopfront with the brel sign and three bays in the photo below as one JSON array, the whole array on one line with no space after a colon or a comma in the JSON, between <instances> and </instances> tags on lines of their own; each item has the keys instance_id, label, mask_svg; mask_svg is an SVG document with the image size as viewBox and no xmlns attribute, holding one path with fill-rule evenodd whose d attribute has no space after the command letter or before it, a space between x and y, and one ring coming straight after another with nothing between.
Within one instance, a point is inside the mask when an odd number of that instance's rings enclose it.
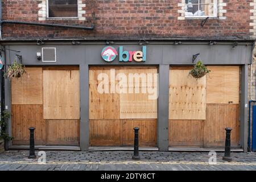
<instances>
[{"instance_id":1,"label":"entire grey boarded-up shopfront with the brel sign and three bays","mask_svg":"<svg viewBox=\"0 0 256 182\"><path fill-rule=\"evenodd\" d=\"M139 127L143 150L224 150L231 127L232 150L247 151L254 42L216 42L8 43L5 72L19 60L11 51L17 50L27 74L4 79L3 107L11 113L6 133L14 137L6 145L27 148L28 127L35 127L39 149L130 150ZM199 79L189 76L197 53L210 70Z\"/></svg>"}]
</instances>

